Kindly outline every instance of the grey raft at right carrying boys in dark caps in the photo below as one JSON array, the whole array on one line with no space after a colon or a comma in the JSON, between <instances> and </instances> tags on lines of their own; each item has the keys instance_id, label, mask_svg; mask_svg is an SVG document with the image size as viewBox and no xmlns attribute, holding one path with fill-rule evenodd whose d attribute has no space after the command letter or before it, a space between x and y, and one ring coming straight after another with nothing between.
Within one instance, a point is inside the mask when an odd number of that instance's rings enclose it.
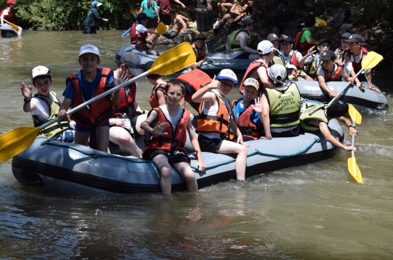
<instances>
[{"instance_id":1,"label":"grey raft at right carrying boys in dark caps","mask_svg":"<svg viewBox=\"0 0 393 260\"><path fill-rule=\"evenodd\" d=\"M339 93L346 84L347 82L343 81L331 81L327 83L328 87L336 93ZM362 82L362 84L367 86L367 82ZM322 103L329 103L333 99L327 92L321 90L318 81L301 80L296 81L296 85L299 88L300 95L305 99ZM372 86L380 90L374 84L372 84ZM353 104L361 111L364 111L365 108L387 110L389 107L388 99L382 91L377 92L356 85L349 86L341 95L340 100L348 104Z\"/></svg>"}]
</instances>

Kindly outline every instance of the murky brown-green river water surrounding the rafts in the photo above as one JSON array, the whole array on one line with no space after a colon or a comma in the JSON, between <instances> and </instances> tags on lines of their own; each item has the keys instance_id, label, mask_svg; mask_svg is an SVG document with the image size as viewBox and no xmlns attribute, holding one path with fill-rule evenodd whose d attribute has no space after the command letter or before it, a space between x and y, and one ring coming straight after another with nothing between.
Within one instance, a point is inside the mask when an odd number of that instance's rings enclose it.
<instances>
[{"instance_id":1,"label":"murky brown-green river water surrounding the rafts","mask_svg":"<svg viewBox=\"0 0 393 260\"><path fill-rule=\"evenodd\" d=\"M79 48L96 45L101 65L114 69L129 42L122 33L24 30L20 39L1 39L0 133L32 126L20 83L31 82L33 67L50 68L61 96L65 78L79 70ZM388 75L377 76L393 104ZM137 101L148 109L152 86L138 84ZM197 193L68 197L23 186L8 160L0 168L0 258L392 259L392 117L392 109L368 112L357 126L363 184L348 173L350 153L340 151L333 161Z\"/></svg>"}]
</instances>

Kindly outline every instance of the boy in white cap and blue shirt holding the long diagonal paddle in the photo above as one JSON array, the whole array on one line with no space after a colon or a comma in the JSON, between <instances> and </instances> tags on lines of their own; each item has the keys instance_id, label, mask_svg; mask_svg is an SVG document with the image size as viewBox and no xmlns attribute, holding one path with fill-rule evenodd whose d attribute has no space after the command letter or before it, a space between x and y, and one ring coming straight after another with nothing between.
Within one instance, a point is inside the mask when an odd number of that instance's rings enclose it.
<instances>
[{"instance_id":1,"label":"boy in white cap and blue shirt holding the long diagonal paddle","mask_svg":"<svg viewBox=\"0 0 393 260\"><path fill-rule=\"evenodd\" d=\"M59 118L68 117L69 107L83 104L111 89L113 85L121 84L125 78L125 73L121 73L115 80L111 69L98 68L101 62L100 52L93 45L88 44L81 47L78 62L82 66L82 70L71 74L66 79L67 86L63 92L64 101L57 115ZM120 90L117 90L114 94L86 105L73 113L71 119L76 122L74 142L85 146L90 142L90 147L108 152L111 107L119 100ZM97 136L96 142L93 138L95 135Z\"/></svg>"}]
</instances>

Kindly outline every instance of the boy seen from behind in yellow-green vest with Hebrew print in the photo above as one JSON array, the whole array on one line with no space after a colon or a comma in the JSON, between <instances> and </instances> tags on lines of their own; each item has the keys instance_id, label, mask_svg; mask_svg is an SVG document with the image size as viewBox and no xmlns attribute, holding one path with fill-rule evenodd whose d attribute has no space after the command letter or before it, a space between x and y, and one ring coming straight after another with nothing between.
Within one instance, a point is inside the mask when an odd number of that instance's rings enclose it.
<instances>
[{"instance_id":1,"label":"boy seen from behind in yellow-green vest with Hebrew print","mask_svg":"<svg viewBox=\"0 0 393 260\"><path fill-rule=\"evenodd\" d=\"M263 139L296 136L299 133L300 92L295 83L285 84L286 69L275 64L268 69L274 88L262 94Z\"/></svg>"}]
</instances>

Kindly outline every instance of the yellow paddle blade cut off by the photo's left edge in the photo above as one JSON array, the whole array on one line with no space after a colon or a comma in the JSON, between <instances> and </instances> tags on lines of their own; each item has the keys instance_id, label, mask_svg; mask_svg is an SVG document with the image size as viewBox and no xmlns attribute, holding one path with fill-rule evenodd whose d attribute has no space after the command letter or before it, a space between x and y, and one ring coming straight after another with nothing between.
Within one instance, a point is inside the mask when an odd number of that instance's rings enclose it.
<instances>
[{"instance_id":1,"label":"yellow paddle blade cut off by the photo's left edge","mask_svg":"<svg viewBox=\"0 0 393 260\"><path fill-rule=\"evenodd\" d=\"M20 127L0 135L0 162L28 149L40 130L39 127Z\"/></svg>"}]
</instances>

